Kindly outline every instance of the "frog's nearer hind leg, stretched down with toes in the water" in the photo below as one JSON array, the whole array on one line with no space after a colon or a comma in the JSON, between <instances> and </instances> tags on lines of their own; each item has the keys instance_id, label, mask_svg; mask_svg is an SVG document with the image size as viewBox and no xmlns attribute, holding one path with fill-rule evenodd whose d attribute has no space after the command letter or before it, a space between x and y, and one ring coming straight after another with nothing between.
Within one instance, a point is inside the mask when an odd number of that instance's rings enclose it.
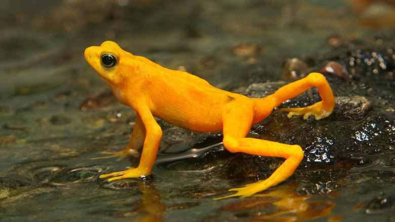
<instances>
[{"instance_id":1,"label":"frog's nearer hind leg, stretched down with toes in the water","mask_svg":"<svg viewBox=\"0 0 395 222\"><path fill-rule=\"evenodd\" d=\"M226 197L248 197L267 188L275 186L290 177L303 159L303 151L299 145L288 145L256 138L245 138L250 131L253 122L253 113L244 105L233 105L231 111L224 110L223 121L223 144L232 153L247 153L259 156L282 157L286 160L263 181L248 184L243 188L230 189L236 191ZM244 106L245 107L245 106ZM249 111L250 110L250 111Z\"/></svg>"}]
</instances>

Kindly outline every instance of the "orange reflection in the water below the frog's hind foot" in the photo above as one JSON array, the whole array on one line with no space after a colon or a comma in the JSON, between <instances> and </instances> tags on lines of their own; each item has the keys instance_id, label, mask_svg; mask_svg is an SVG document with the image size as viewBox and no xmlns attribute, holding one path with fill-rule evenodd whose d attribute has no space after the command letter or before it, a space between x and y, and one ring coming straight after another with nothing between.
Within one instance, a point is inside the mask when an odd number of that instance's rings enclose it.
<instances>
[{"instance_id":1,"label":"orange reflection in the water below the frog's hind foot","mask_svg":"<svg viewBox=\"0 0 395 222\"><path fill-rule=\"evenodd\" d=\"M240 199L221 208L236 217L248 217L247 221L302 221L329 216L335 203L329 200L311 200L315 196L299 195L294 183L275 190L257 194L253 198ZM332 216L337 221L339 216Z\"/></svg>"}]
</instances>

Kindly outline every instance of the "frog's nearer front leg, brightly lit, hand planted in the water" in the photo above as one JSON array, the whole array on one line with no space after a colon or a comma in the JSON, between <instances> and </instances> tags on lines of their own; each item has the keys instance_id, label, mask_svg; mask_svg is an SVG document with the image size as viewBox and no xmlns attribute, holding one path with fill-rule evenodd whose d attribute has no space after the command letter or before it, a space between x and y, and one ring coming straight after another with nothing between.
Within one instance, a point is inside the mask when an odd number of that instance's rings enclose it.
<instances>
[{"instance_id":1,"label":"frog's nearer front leg, brightly lit, hand planted in the water","mask_svg":"<svg viewBox=\"0 0 395 222\"><path fill-rule=\"evenodd\" d=\"M145 177L151 174L151 169L153 167L153 164L155 163L156 154L159 149L159 144L161 142L162 129L156 123L155 119L153 118L152 114L148 109L137 112L139 114L138 117L141 117L141 125L143 125L145 129L143 132L143 128L139 128L140 131L137 133L139 136L144 135L145 137L139 166L137 168L129 167L129 169L125 171L103 174L100 175L100 178L115 176L108 179L108 181L112 181L116 179L131 177ZM138 121L136 120L136 125L137 124ZM134 131L135 130L133 130L133 132ZM138 141L140 140L136 140L136 144L138 144Z\"/></svg>"}]
</instances>

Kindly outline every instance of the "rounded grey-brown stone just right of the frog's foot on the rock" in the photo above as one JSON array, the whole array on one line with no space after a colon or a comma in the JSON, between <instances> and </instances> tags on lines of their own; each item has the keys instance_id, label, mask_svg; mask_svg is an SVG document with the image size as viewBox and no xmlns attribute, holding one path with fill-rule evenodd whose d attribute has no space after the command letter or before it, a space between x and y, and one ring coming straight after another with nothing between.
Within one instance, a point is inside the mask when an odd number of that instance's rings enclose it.
<instances>
[{"instance_id":1,"label":"rounded grey-brown stone just right of the frog's foot on the rock","mask_svg":"<svg viewBox=\"0 0 395 222\"><path fill-rule=\"evenodd\" d=\"M372 110L371 102L363 96L336 97L335 109L331 118L342 120L362 120Z\"/></svg>"}]
</instances>

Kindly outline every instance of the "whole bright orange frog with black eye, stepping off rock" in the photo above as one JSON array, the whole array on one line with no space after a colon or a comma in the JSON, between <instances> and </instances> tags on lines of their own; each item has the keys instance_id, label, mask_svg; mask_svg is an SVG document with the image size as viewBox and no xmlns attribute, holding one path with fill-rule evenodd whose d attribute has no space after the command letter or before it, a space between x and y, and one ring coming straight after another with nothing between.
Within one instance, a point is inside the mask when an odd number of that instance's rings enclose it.
<instances>
[{"instance_id":1,"label":"whole bright orange frog with black eye, stepping off rock","mask_svg":"<svg viewBox=\"0 0 395 222\"><path fill-rule=\"evenodd\" d=\"M162 67L144 57L122 50L114 42L104 42L85 50L88 63L111 88L116 99L136 110L137 119L130 142L121 152L109 157L123 157L143 148L137 168L101 175L108 181L151 174L162 129L154 117L184 129L223 131L223 145L232 153L282 157L286 160L263 181L248 184L226 197L248 197L275 186L290 177L303 159L299 145L288 145L256 138L246 138L252 125L270 115L273 108L311 87L317 87L322 101L303 108L285 108L288 117L303 115L320 120L328 117L335 99L325 77L310 73L306 78L281 87L264 98L248 98L211 86L187 72ZM223 197L223 198L226 198Z\"/></svg>"}]
</instances>

